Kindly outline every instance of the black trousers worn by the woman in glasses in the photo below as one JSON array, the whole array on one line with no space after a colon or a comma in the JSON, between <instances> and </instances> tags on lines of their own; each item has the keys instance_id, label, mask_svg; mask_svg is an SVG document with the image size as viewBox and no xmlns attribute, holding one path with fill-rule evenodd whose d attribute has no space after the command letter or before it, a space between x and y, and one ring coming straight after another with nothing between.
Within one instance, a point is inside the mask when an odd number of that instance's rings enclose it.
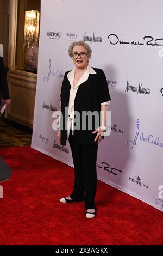
<instances>
[{"instance_id":1,"label":"black trousers worn by the woman in glasses","mask_svg":"<svg viewBox=\"0 0 163 256\"><path fill-rule=\"evenodd\" d=\"M74 188L70 197L85 200L86 209L95 209L97 188L96 160L98 144L74 145L70 130L69 143L74 164Z\"/></svg>"}]
</instances>

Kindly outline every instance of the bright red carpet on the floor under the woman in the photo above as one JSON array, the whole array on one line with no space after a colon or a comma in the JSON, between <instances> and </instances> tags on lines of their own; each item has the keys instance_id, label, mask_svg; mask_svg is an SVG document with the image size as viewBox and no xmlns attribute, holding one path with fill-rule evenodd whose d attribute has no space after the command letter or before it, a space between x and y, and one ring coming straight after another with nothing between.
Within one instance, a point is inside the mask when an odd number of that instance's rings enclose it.
<instances>
[{"instance_id":1,"label":"bright red carpet on the floor under the woman","mask_svg":"<svg viewBox=\"0 0 163 256\"><path fill-rule=\"evenodd\" d=\"M98 181L97 216L62 204L73 168L29 147L0 149L11 179L1 205L1 245L162 245L162 212Z\"/></svg>"}]
</instances>

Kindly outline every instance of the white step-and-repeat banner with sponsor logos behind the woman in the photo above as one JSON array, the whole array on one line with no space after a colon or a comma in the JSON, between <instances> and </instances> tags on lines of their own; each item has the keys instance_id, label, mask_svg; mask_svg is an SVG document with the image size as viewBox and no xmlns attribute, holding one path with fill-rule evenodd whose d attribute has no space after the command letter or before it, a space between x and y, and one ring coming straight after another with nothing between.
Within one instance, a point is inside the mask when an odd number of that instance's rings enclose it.
<instances>
[{"instance_id":1,"label":"white step-and-repeat banner with sponsor logos behind the woman","mask_svg":"<svg viewBox=\"0 0 163 256\"><path fill-rule=\"evenodd\" d=\"M52 129L68 46L84 40L111 94L111 135L100 143L98 179L163 211L162 0L42 0L32 148L72 163ZM64 170L61 170L61 172Z\"/></svg>"}]
</instances>

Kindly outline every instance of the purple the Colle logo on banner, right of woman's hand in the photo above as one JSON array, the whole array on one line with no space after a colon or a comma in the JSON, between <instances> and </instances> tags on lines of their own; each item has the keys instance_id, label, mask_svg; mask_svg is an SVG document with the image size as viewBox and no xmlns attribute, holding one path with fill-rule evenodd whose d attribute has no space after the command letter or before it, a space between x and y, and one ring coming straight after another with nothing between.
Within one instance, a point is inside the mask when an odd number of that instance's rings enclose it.
<instances>
[{"instance_id":1,"label":"purple the Colle logo on banner, right of woman's hand","mask_svg":"<svg viewBox=\"0 0 163 256\"><path fill-rule=\"evenodd\" d=\"M137 142L141 141L143 143L149 143L153 145L154 147L160 147L163 148L163 142L160 142L159 136L154 136L154 135L145 135L144 132L140 133L140 128L139 128L139 119L136 120L136 133L135 133L135 138L133 141L128 140L127 145L131 147L131 149L134 148L134 146L137 146Z\"/></svg>"}]
</instances>

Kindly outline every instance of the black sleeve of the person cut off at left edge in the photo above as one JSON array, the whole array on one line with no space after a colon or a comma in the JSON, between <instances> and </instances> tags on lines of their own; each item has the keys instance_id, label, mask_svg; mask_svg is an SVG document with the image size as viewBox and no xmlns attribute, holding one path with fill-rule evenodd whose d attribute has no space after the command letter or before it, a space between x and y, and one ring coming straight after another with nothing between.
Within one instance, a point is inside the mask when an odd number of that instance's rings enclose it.
<instances>
[{"instance_id":1,"label":"black sleeve of the person cut off at left edge","mask_svg":"<svg viewBox=\"0 0 163 256\"><path fill-rule=\"evenodd\" d=\"M3 57L0 57L0 92L2 92L2 97L4 100L10 99L7 71L5 70Z\"/></svg>"}]
</instances>

